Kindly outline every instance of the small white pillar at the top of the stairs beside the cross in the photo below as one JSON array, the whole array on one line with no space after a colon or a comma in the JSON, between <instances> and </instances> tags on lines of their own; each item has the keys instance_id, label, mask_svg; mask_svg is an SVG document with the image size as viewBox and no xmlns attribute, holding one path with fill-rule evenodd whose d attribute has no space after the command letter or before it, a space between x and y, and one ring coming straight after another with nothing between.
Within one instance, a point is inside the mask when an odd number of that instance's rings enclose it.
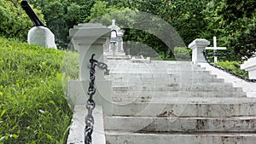
<instances>
[{"instance_id":1,"label":"small white pillar at the top of the stairs beside the cross","mask_svg":"<svg viewBox=\"0 0 256 144\"><path fill-rule=\"evenodd\" d=\"M206 62L205 57L202 53L206 49L210 42L206 39L196 38L192 43L189 44L189 49L192 49L192 62L196 65L197 62Z\"/></svg>"}]
</instances>

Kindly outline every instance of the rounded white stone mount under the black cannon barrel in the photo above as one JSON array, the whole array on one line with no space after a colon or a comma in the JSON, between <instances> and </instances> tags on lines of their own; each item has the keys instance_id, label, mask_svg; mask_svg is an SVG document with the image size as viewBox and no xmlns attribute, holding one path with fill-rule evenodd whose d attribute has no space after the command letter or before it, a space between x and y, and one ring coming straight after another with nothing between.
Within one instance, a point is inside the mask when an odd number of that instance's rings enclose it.
<instances>
[{"instance_id":1,"label":"rounded white stone mount under the black cannon barrel","mask_svg":"<svg viewBox=\"0 0 256 144\"><path fill-rule=\"evenodd\" d=\"M57 49L55 35L44 26L32 27L27 34L27 42L41 47Z\"/></svg>"}]
</instances>

